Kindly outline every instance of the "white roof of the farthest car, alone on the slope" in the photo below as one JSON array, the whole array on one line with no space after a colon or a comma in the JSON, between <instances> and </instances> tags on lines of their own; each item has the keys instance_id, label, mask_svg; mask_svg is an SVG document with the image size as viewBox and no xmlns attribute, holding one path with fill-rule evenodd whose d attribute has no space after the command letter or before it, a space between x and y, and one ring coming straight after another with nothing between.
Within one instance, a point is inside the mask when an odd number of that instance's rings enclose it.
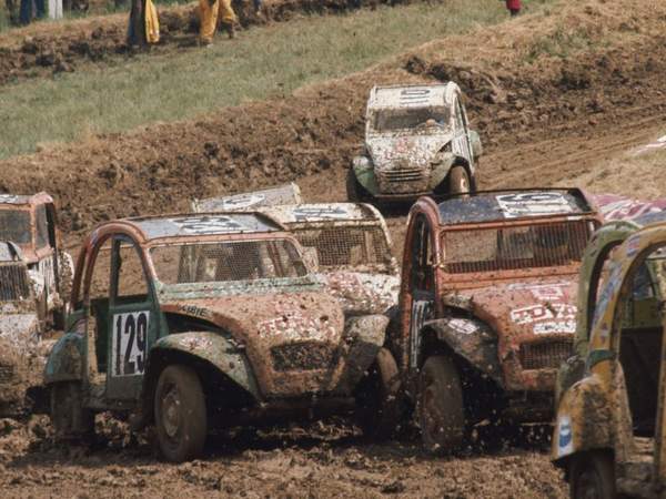
<instances>
[{"instance_id":1,"label":"white roof of the farthest car, alone on the slope","mask_svg":"<svg viewBox=\"0 0 666 499\"><path fill-rule=\"evenodd\" d=\"M453 83L432 85L390 85L374 86L370 92L367 108L430 108L444 105L453 101L458 86Z\"/></svg>"}]
</instances>

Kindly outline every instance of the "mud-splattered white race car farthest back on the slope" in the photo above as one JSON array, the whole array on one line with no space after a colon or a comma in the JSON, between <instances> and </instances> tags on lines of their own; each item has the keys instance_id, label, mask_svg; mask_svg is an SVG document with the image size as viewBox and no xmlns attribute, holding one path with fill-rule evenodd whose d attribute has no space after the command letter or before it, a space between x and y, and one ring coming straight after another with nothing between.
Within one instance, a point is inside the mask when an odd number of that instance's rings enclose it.
<instances>
[{"instance_id":1,"label":"mud-splattered white race car farthest back on the slope","mask_svg":"<svg viewBox=\"0 0 666 499\"><path fill-rule=\"evenodd\" d=\"M365 152L347 174L350 201L411 201L476 190L482 154L461 89L375 86L365 116Z\"/></svg>"}]
</instances>

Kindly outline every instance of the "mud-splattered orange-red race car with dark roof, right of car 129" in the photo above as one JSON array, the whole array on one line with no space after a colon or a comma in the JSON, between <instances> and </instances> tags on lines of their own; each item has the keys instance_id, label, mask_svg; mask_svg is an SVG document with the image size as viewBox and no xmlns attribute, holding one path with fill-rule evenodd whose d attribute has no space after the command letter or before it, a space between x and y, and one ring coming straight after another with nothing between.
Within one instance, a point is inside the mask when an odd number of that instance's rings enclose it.
<instances>
[{"instance_id":1,"label":"mud-splattered orange-red race car with dark roof, right of car 129","mask_svg":"<svg viewBox=\"0 0 666 499\"><path fill-rule=\"evenodd\" d=\"M576 279L599 224L578 190L486 192L410 212L391 345L425 447L475 424L548 421L571 356Z\"/></svg>"}]
</instances>

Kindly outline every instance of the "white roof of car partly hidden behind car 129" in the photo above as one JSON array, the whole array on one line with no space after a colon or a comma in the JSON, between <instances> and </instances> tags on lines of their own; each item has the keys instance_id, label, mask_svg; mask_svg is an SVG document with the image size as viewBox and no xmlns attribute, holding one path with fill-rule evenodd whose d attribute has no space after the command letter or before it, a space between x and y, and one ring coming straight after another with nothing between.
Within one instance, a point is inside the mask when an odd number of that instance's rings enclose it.
<instances>
[{"instance_id":1,"label":"white roof of car partly hidden behind car 129","mask_svg":"<svg viewBox=\"0 0 666 499\"><path fill-rule=\"evenodd\" d=\"M284 225L381 221L381 215L374 207L362 203L301 203L260 210Z\"/></svg>"}]
</instances>

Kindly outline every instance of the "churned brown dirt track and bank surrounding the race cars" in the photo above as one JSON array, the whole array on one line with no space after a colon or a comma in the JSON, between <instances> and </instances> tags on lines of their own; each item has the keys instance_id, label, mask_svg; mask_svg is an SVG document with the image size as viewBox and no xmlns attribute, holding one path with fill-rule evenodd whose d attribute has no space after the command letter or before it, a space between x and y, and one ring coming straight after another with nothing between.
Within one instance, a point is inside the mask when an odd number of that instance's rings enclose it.
<instances>
[{"instance_id":1,"label":"churned brown dirt track and bank surrounding the race cars","mask_svg":"<svg viewBox=\"0 0 666 499\"><path fill-rule=\"evenodd\" d=\"M594 190L599 165L666 130L665 24L663 2L567 4L557 14L433 42L285 100L8 160L0 191L51 192L71 241L105 218L181 210L192 196L287 180L299 180L310 200L342 200L370 86L425 79L454 79L465 89L487 152L483 187ZM554 33L565 41L584 34L585 42L572 42L565 57L539 52ZM663 175L646 182L649 195L665 191ZM630 171L616 172L604 189L642 194ZM404 217L390 225L400 253ZM174 467L145 445L118 449L124 434L109 427L107 447L68 452L52 447L48 425L8 425L2 437L0 422L0 489L9 497L566 496L547 455L519 448L430 459L410 440L377 446L335 428L296 428L286 437L225 440L206 459Z\"/></svg>"}]
</instances>

